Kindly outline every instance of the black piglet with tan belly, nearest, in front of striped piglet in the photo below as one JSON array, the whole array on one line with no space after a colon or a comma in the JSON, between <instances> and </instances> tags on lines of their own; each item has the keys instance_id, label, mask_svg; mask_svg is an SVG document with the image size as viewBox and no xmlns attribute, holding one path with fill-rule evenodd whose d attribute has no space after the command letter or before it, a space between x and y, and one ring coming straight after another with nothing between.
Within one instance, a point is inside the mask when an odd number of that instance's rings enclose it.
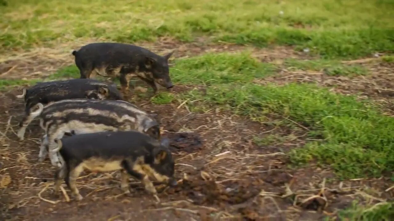
<instances>
[{"instance_id":1,"label":"black piglet with tan belly, nearest, in front of striped piglet","mask_svg":"<svg viewBox=\"0 0 394 221\"><path fill-rule=\"evenodd\" d=\"M65 136L55 141L61 166L55 173L55 193L64 179L77 201L83 199L75 181L84 170L121 172L121 189L129 193L128 178L141 180L145 189L156 195L149 177L170 186L174 178L174 160L168 149L169 140L156 140L138 131L106 131ZM157 195L156 195L157 197Z\"/></svg>"}]
</instances>

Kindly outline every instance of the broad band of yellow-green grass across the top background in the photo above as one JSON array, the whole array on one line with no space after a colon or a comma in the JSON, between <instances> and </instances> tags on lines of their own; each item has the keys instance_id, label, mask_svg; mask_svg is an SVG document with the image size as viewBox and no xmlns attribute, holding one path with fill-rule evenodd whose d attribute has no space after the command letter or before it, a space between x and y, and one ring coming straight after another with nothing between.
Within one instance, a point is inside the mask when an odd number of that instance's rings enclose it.
<instances>
[{"instance_id":1,"label":"broad band of yellow-green grass across the top background","mask_svg":"<svg viewBox=\"0 0 394 221\"><path fill-rule=\"evenodd\" d=\"M390 0L20 0L0 6L0 43L5 52L76 39L134 43L203 35L353 58L394 51L393 9Z\"/></svg>"}]
</instances>

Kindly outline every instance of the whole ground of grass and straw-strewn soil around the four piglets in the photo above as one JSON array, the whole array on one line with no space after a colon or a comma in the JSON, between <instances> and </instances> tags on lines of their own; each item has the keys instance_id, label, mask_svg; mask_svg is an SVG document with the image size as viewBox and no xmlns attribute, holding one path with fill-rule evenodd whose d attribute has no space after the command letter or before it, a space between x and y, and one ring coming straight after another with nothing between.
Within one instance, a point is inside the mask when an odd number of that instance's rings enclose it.
<instances>
[{"instance_id":1,"label":"whole ground of grass and straw-strewn soil around the four piglets","mask_svg":"<svg viewBox=\"0 0 394 221\"><path fill-rule=\"evenodd\" d=\"M392 1L6 2L1 220L394 218ZM83 174L81 202L56 198L37 121L15 135L20 87L78 77L71 51L95 41L177 49L175 91L130 99L158 113L172 144L187 132L203 141L174 151L183 180L158 204L137 180L121 195L117 172Z\"/></svg>"}]
</instances>

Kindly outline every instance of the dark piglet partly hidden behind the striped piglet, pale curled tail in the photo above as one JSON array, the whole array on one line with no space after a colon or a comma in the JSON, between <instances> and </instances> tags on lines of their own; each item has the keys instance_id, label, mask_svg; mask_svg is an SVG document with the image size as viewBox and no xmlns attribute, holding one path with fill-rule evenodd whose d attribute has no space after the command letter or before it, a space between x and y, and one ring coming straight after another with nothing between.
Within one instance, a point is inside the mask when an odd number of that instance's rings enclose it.
<instances>
[{"instance_id":1,"label":"dark piglet partly hidden behind the striped piglet, pale curled tail","mask_svg":"<svg viewBox=\"0 0 394 221\"><path fill-rule=\"evenodd\" d=\"M28 89L17 98L24 98L25 114L19 123L18 137L24 139L27 126L37 117L37 112L30 112L38 103L49 103L64 99L110 99L122 100L123 96L113 84L107 84L95 79L70 79L40 82Z\"/></svg>"}]
</instances>

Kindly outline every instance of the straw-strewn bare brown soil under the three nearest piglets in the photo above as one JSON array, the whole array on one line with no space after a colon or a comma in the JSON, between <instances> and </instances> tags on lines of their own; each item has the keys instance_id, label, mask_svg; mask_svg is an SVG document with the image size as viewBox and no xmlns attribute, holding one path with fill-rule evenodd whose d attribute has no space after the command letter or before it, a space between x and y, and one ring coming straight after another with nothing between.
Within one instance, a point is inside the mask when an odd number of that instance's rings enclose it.
<instances>
[{"instance_id":1,"label":"straw-strewn bare brown soil under the three nearest piglets","mask_svg":"<svg viewBox=\"0 0 394 221\"><path fill-rule=\"evenodd\" d=\"M252 142L254 136L271 131L292 133L289 129L273 130L229 113L193 113L177 109L178 104L137 101L144 110L158 113L163 136L178 147L174 156L179 185L157 186L161 201L155 203L138 180L131 180L131 193L123 195L119 172L84 173L77 180L84 199L76 202L71 197L66 202L62 194L53 195L54 168L49 160L37 162L43 135L37 120L26 131L25 140L17 141L23 104L16 94L12 90L0 97L2 220L320 220L335 215L353 199L379 203L394 197L393 191L386 191L393 185L388 180L340 182L330 169L313 164L288 169L281 151L288 145ZM293 144L302 144L302 139ZM198 148L186 151L193 145ZM64 182L63 187L71 196Z\"/></svg>"}]
</instances>

